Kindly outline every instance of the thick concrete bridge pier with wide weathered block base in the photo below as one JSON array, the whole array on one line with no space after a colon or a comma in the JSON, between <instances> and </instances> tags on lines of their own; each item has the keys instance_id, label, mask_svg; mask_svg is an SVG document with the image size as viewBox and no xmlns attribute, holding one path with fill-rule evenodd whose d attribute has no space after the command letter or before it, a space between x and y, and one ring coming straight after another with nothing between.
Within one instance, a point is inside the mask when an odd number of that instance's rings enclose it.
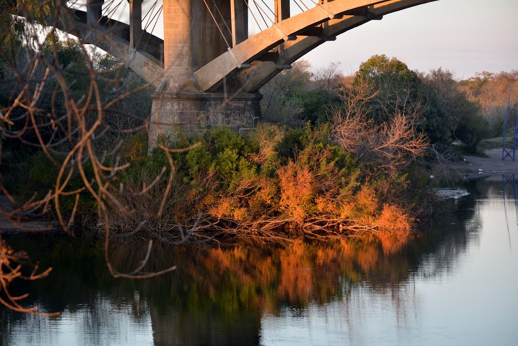
<instances>
[{"instance_id":1,"label":"thick concrete bridge pier with wide weathered block base","mask_svg":"<svg viewBox=\"0 0 518 346\"><path fill-rule=\"evenodd\" d=\"M231 81L206 93L194 77L195 70L232 47L233 38L239 43L248 36L248 8L238 7L243 3L234 1L233 22L229 0L163 0L165 72L152 94L150 151L159 136L177 129L192 135L224 124L244 132L261 118L261 94L236 95L239 86ZM200 121L200 116L205 117Z\"/></svg>"}]
</instances>

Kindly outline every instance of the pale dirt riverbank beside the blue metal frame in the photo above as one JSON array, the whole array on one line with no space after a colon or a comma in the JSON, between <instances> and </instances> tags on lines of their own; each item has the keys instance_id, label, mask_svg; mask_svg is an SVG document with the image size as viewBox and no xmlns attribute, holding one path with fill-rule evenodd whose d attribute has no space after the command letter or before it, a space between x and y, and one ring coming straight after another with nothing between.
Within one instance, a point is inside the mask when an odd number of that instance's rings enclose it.
<instances>
[{"instance_id":1,"label":"pale dirt riverbank beside the blue metal frame","mask_svg":"<svg viewBox=\"0 0 518 346\"><path fill-rule=\"evenodd\" d=\"M487 157L464 156L464 161L455 163L462 178L501 180L502 174L518 173L518 152L516 162L509 157L502 161L502 149L489 149L485 153Z\"/></svg>"}]
</instances>

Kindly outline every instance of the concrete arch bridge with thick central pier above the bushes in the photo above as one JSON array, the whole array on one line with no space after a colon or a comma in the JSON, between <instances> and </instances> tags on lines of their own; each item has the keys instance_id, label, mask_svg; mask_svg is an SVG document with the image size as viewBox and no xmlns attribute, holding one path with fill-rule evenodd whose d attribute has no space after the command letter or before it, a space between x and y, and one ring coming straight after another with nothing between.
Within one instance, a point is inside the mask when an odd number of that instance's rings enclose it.
<instances>
[{"instance_id":1,"label":"concrete arch bridge with thick central pier above the bushes","mask_svg":"<svg viewBox=\"0 0 518 346\"><path fill-rule=\"evenodd\" d=\"M436 0L163 0L163 40L143 30L143 0L126 1L130 24L109 18L104 0L87 0L87 11L60 25L156 86L151 148L172 125L186 133L254 127L259 89L301 56L356 26ZM249 35L252 20L260 32Z\"/></svg>"}]
</instances>

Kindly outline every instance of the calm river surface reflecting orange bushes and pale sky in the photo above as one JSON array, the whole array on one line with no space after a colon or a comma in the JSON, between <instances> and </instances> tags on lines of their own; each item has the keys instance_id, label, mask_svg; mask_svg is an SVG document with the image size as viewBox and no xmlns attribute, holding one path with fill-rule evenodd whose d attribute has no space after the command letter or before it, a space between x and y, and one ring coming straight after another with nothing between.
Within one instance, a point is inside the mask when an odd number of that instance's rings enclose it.
<instances>
[{"instance_id":1,"label":"calm river surface reflecting orange bushes and pale sky","mask_svg":"<svg viewBox=\"0 0 518 346\"><path fill-rule=\"evenodd\" d=\"M52 275L13 287L38 318L0 307L6 345L518 344L518 203L478 181L419 236L377 234L287 249L156 248L159 279L111 278L102 250L11 235ZM505 194L504 194L505 191ZM7 238L7 237L6 237ZM36 245L35 245L36 242ZM136 266L122 244L112 262Z\"/></svg>"}]
</instances>

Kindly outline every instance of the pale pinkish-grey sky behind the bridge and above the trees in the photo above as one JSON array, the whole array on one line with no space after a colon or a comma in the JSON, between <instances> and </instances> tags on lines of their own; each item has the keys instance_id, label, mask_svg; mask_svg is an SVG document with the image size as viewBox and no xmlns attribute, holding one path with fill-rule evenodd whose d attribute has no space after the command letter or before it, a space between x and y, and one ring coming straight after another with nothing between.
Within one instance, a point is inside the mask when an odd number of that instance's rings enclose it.
<instances>
[{"instance_id":1,"label":"pale pinkish-grey sky behind the bridge and above the trees","mask_svg":"<svg viewBox=\"0 0 518 346\"><path fill-rule=\"evenodd\" d=\"M109 3L106 0L105 4ZM153 3L145 0L143 14ZM158 0L155 9L161 5L162 0ZM292 16L296 8L292 4ZM126 1L117 12L128 13ZM127 14L114 18L127 22ZM253 24L250 30L257 32L251 17L249 23ZM162 18L154 34L163 37ZM451 69L458 78L482 70L518 69L518 0L439 0L408 8L356 27L302 59L317 68L340 62L347 74L374 54L395 56L410 69Z\"/></svg>"}]
</instances>

